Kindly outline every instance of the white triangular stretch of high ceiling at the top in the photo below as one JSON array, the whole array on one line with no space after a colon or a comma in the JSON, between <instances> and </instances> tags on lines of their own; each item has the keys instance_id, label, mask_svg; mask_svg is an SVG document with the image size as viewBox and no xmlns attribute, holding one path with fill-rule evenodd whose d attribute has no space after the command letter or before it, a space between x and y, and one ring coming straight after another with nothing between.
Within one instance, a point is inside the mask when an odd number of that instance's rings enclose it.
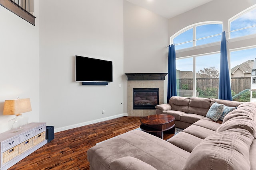
<instances>
[{"instance_id":1,"label":"white triangular stretch of high ceiling at the top","mask_svg":"<svg viewBox=\"0 0 256 170\"><path fill-rule=\"evenodd\" d=\"M172 18L212 0L126 0L165 18Z\"/></svg>"}]
</instances>

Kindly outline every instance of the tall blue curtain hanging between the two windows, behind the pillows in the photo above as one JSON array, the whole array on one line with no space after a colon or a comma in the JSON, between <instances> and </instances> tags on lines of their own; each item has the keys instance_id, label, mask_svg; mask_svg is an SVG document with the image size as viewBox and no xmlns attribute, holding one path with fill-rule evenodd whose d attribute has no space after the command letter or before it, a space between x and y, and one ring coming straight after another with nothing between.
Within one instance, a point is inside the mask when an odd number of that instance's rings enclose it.
<instances>
[{"instance_id":1,"label":"tall blue curtain hanging between the two windows, behind the pillows","mask_svg":"<svg viewBox=\"0 0 256 170\"><path fill-rule=\"evenodd\" d=\"M232 100L230 76L228 69L228 56L226 45L226 34L222 32L220 44L220 80L219 80L219 99Z\"/></svg>"}]
</instances>

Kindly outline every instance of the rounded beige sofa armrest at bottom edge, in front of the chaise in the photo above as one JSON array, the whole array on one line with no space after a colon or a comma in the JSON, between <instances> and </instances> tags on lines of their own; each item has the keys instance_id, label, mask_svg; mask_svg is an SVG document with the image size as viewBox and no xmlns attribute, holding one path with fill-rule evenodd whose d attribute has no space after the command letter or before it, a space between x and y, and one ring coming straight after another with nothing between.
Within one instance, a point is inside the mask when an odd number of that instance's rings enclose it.
<instances>
[{"instance_id":1,"label":"rounded beige sofa armrest at bottom edge, in front of the chaise","mask_svg":"<svg viewBox=\"0 0 256 170\"><path fill-rule=\"evenodd\" d=\"M124 156L110 162L108 170L156 170L156 168L140 159Z\"/></svg>"}]
</instances>

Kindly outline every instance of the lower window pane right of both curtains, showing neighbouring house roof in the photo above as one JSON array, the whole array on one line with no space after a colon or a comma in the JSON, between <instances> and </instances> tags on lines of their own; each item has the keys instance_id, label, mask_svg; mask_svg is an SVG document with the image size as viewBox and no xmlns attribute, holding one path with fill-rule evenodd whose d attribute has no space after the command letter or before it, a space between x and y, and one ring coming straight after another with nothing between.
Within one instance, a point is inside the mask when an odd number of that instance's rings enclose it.
<instances>
[{"instance_id":1,"label":"lower window pane right of both curtains, showing neighbouring house roof","mask_svg":"<svg viewBox=\"0 0 256 170\"><path fill-rule=\"evenodd\" d=\"M251 84L255 53L256 48L232 51L230 53L231 90L235 101L249 102L251 86L252 89L256 89L256 84ZM252 93L255 94L254 91ZM252 100L256 101L255 95L253 95L253 98Z\"/></svg>"}]
</instances>

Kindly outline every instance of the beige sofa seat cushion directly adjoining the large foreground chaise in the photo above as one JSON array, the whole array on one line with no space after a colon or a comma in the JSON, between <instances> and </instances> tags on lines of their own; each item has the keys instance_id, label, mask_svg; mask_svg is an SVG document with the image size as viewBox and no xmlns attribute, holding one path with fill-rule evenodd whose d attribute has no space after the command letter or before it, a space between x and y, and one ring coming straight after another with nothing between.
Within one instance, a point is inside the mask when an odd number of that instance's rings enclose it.
<instances>
[{"instance_id":1,"label":"beige sofa seat cushion directly adjoining the large foreground chaise","mask_svg":"<svg viewBox=\"0 0 256 170\"><path fill-rule=\"evenodd\" d=\"M202 140L203 139L199 137L181 131L177 135L174 135L173 137L168 139L167 141L183 150L192 152L194 147L196 147L196 145L202 142Z\"/></svg>"}]
</instances>

